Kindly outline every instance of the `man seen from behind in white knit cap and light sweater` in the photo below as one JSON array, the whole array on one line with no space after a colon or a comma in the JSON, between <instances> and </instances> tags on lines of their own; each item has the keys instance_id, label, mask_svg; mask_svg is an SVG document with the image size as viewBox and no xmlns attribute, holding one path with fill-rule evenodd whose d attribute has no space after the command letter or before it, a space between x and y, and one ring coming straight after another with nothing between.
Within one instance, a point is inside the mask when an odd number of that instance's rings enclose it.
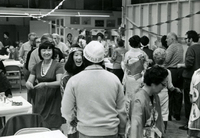
<instances>
[{"instance_id":1,"label":"man seen from behind in white knit cap and light sweater","mask_svg":"<svg viewBox=\"0 0 200 138\"><path fill-rule=\"evenodd\" d=\"M70 124L77 118L79 138L123 137L127 120L123 88L117 76L102 67L104 47L91 41L83 55L86 68L67 82L62 116Z\"/></svg>"}]
</instances>

